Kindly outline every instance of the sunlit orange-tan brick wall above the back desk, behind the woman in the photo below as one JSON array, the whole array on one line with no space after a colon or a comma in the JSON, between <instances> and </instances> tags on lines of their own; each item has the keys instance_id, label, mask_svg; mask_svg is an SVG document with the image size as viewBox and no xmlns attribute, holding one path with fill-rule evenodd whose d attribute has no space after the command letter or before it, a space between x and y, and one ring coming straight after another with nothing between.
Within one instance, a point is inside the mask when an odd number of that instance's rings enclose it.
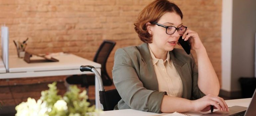
<instances>
[{"instance_id":1,"label":"sunlit orange-tan brick wall above the back desk, behind the woman","mask_svg":"<svg viewBox=\"0 0 256 116\"><path fill-rule=\"evenodd\" d=\"M142 43L133 23L151 1L0 0L0 24L9 27L12 55L17 53L12 40L29 37L28 50L64 51L92 60L102 40L114 40L117 44L107 62L112 77L116 49ZM221 82L221 0L173 1L184 14L183 24L198 32Z\"/></svg>"}]
</instances>

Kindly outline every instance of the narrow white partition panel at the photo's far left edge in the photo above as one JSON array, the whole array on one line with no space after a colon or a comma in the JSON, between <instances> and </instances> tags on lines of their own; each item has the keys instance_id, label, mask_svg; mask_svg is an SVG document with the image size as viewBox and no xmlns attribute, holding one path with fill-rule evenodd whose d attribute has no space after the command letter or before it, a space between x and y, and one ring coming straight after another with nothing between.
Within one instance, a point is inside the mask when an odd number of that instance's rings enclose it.
<instances>
[{"instance_id":1,"label":"narrow white partition panel at the photo's far left edge","mask_svg":"<svg viewBox=\"0 0 256 116\"><path fill-rule=\"evenodd\" d=\"M6 26L1 27L1 47L3 63L6 72L9 72L9 30Z\"/></svg>"}]
</instances>

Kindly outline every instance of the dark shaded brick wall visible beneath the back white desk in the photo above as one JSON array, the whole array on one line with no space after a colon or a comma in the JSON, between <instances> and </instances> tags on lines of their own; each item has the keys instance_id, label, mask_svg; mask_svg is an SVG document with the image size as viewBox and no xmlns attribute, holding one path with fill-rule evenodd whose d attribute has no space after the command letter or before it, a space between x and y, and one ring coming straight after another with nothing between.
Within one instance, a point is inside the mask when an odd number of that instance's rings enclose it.
<instances>
[{"instance_id":1,"label":"dark shaded brick wall visible beneath the back white desk","mask_svg":"<svg viewBox=\"0 0 256 116\"><path fill-rule=\"evenodd\" d=\"M57 76L51 78L53 79L49 79L47 81L44 81L43 83L41 83L41 81L39 82L38 78L23 78L19 80L0 79L0 102L4 106L9 106L18 105L22 101L27 101L28 97L39 99L41 96L41 91L49 89L47 85L51 84L53 81L58 81L58 94L63 95L66 91L66 87L64 85L64 81L59 81L62 80L63 77Z\"/></svg>"}]
</instances>

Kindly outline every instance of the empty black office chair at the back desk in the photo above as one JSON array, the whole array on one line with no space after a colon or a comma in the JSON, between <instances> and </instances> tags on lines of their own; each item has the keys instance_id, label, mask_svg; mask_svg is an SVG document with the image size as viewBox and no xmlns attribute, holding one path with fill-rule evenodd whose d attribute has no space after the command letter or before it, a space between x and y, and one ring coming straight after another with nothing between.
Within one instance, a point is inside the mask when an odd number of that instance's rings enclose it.
<instances>
[{"instance_id":1,"label":"empty black office chair at the back desk","mask_svg":"<svg viewBox=\"0 0 256 116\"><path fill-rule=\"evenodd\" d=\"M97 50L93 62L97 62L101 64L101 78L103 81L104 86L111 86L112 80L110 79L109 75L107 74L106 70L106 63L107 58L110 54L110 52L113 50L116 42L111 40L104 40L99 49ZM72 75L70 77L66 78L66 82L68 84L78 84L81 85L81 87L85 87L87 90L88 95L88 87L90 85L95 85L95 75Z\"/></svg>"}]
</instances>

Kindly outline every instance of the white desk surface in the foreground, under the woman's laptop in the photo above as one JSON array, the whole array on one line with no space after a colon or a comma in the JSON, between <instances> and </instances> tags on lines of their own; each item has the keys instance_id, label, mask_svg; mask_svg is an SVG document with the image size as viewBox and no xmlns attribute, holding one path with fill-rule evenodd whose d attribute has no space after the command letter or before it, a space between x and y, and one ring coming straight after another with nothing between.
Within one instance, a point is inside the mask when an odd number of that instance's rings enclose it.
<instances>
[{"instance_id":1,"label":"white desk surface in the foreground, under the woman's laptop","mask_svg":"<svg viewBox=\"0 0 256 116\"><path fill-rule=\"evenodd\" d=\"M225 100L227 103L228 107L239 105L239 106L244 106L248 107L252 98L246 98L246 99L233 99L233 100ZM217 109L214 109L213 111L217 111ZM210 113L208 112L194 112L194 111L189 111L189 112L183 112L183 114L188 114L191 116L200 116L202 114L207 114ZM112 111L103 111L99 114L99 116L161 116L164 114L168 113L162 113L162 114L157 114L157 113L152 113L152 112L144 112L144 111L139 111L139 110L134 110L134 109L125 109L125 110L112 110Z\"/></svg>"}]
</instances>

